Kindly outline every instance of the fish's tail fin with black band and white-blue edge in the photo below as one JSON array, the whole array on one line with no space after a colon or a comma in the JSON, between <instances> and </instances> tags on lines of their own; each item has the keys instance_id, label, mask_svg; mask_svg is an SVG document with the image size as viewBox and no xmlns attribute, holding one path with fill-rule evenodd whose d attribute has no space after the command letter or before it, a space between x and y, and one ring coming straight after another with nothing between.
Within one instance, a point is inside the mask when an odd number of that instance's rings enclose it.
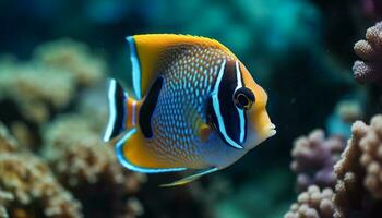
<instances>
[{"instance_id":1,"label":"fish's tail fin with black band and white-blue edge","mask_svg":"<svg viewBox=\"0 0 382 218\"><path fill-rule=\"evenodd\" d=\"M129 97L128 92L114 78L109 82L107 99L109 118L104 133L105 142L136 125L140 106L140 102Z\"/></svg>"}]
</instances>

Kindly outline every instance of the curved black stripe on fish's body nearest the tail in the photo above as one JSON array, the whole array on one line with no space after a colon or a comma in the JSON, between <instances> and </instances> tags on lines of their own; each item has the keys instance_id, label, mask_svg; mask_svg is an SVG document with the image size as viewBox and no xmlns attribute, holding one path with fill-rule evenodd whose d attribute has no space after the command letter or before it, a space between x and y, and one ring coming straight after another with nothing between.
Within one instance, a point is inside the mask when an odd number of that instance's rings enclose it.
<instances>
[{"instance_id":1,"label":"curved black stripe on fish's body nearest the tail","mask_svg":"<svg viewBox=\"0 0 382 218\"><path fill-rule=\"evenodd\" d=\"M147 96L143 100L140 109L139 123L143 135L146 138L153 137L152 117L162 90L163 77L158 77L148 89Z\"/></svg>"}]
</instances>

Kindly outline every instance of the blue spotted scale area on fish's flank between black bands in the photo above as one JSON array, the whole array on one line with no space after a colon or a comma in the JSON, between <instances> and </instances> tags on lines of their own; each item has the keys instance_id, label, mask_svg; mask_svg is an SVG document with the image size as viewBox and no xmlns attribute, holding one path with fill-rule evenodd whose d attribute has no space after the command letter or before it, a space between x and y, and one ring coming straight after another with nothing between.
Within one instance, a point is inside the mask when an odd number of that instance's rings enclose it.
<instances>
[{"instance_id":1,"label":"blue spotted scale area on fish's flank between black bands","mask_svg":"<svg viewBox=\"0 0 382 218\"><path fill-rule=\"evenodd\" d=\"M207 150L198 130L206 122L207 100L223 60L234 58L206 45L178 45L163 57L158 71L164 84L147 144L163 161L198 168Z\"/></svg>"}]
</instances>

